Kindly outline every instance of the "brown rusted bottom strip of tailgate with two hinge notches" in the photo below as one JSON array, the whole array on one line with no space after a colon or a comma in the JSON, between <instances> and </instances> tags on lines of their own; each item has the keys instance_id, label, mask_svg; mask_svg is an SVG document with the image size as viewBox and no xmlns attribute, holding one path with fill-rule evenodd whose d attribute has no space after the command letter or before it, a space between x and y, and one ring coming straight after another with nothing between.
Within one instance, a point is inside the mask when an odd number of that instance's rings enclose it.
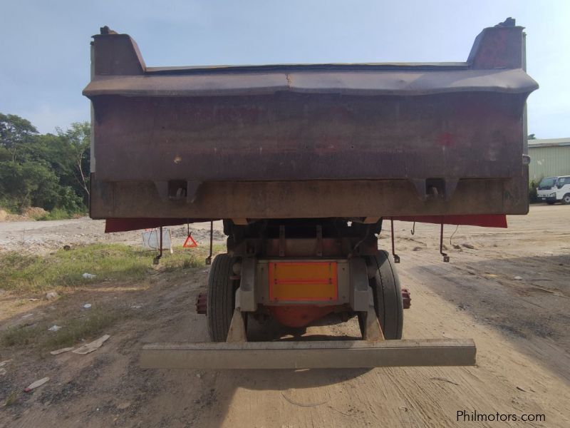
<instances>
[{"instance_id":1,"label":"brown rusted bottom strip of tailgate with two hinge notches","mask_svg":"<svg viewBox=\"0 0 570 428\"><path fill-rule=\"evenodd\" d=\"M326 218L526 214L518 180L460 180L451 200L424 202L408 180L207 182L195 203L162 200L150 182L91 181L92 218ZM183 222L182 222L183 223Z\"/></svg>"}]
</instances>

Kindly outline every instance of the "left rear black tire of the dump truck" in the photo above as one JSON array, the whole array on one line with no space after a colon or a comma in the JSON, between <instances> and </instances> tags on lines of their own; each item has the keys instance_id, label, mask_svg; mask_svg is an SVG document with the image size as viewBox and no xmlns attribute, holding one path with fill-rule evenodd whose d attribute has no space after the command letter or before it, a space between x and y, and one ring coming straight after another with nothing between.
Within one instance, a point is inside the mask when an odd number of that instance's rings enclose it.
<instances>
[{"instance_id":1,"label":"left rear black tire of the dump truck","mask_svg":"<svg viewBox=\"0 0 570 428\"><path fill-rule=\"evenodd\" d=\"M233 264L227 254L219 254L209 270L207 323L212 342L226 341L234 315L237 281L229 279Z\"/></svg>"}]
</instances>

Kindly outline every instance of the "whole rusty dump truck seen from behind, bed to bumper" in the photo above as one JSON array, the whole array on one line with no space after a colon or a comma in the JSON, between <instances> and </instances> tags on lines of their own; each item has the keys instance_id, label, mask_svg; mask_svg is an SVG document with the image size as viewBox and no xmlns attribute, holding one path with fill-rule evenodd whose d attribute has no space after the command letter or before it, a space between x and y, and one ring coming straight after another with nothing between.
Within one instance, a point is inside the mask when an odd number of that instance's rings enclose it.
<instances>
[{"instance_id":1,"label":"whole rusty dump truck seen from behind, bed to bumper","mask_svg":"<svg viewBox=\"0 0 570 428\"><path fill-rule=\"evenodd\" d=\"M484 29L460 63L170 68L101 30L83 91L91 217L108 231L223 220L227 235L197 302L212 342L145 345L143 367L475 364L471 340L402 339L410 292L378 235L394 219L527 213L538 86L522 27ZM248 317L304 327L331 314L358 317L362 340L247 340Z\"/></svg>"}]
</instances>

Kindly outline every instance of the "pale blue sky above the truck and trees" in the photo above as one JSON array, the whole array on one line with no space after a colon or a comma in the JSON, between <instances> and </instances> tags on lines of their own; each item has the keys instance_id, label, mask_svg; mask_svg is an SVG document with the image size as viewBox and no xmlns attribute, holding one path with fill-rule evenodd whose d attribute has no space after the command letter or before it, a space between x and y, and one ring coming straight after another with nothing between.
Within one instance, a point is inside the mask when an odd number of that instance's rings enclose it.
<instances>
[{"instance_id":1,"label":"pale blue sky above the truck and trees","mask_svg":"<svg viewBox=\"0 0 570 428\"><path fill-rule=\"evenodd\" d=\"M529 133L570 137L570 1L2 0L0 112L54 132L89 118L89 41L128 33L147 66L465 61L507 16L527 28Z\"/></svg>"}]
</instances>

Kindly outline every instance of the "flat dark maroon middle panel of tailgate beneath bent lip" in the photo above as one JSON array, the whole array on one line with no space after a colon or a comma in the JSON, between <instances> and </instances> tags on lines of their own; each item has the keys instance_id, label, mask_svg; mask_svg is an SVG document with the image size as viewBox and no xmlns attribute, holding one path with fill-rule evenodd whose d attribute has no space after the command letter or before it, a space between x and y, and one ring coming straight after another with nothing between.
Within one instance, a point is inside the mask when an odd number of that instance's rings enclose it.
<instances>
[{"instance_id":1,"label":"flat dark maroon middle panel of tailgate beneath bent lip","mask_svg":"<svg viewBox=\"0 0 570 428\"><path fill-rule=\"evenodd\" d=\"M206 182L522 176L524 99L494 92L108 96L94 102L96 177Z\"/></svg>"}]
</instances>

